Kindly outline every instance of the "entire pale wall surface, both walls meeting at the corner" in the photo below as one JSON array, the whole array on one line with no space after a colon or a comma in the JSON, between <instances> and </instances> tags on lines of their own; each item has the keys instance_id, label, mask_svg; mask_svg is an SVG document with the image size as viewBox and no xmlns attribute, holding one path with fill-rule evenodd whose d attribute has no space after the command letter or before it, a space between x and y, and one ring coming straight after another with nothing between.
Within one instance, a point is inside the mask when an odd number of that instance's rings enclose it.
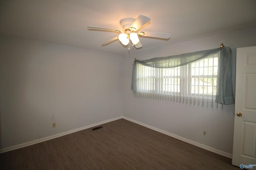
<instances>
[{"instance_id":1,"label":"entire pale wall surface, both walls meeting at the corner","mask_svg":"<svg viewBox=\"0 0 256 170\"><path fill-rule=\"evenodd\" d=\"M234 105L217 109L135 98L130 90L134 58L213 49L220 43L231 47L235 59L236 48L256 45L256 27L126 56L1 36L0 148L125 116L232 154Z\"/></svg>"}]
</instances>

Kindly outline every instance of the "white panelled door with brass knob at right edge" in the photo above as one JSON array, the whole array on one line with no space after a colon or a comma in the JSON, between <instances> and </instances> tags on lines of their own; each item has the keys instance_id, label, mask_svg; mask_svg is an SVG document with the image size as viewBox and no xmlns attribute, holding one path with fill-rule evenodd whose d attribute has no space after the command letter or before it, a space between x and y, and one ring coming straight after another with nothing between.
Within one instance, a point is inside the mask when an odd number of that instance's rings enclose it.
<instances>
[{"instance_id":1,"label":"white panelled door with brass knob at right edge","mask_svg":"<svg viewBox=\"0 0 256 170\"><path fill-rule=\"evenodd\" d=\"M236 49L232 164L256 169L256 46Z\"/></svg>"}]
</instances>

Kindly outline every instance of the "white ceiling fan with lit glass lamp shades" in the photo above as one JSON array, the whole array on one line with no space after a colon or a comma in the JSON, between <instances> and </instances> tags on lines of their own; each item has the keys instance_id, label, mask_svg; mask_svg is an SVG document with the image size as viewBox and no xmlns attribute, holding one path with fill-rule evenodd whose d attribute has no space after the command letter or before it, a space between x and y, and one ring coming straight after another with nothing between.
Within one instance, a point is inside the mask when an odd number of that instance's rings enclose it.
<instances>
[{"instance_id":1,"label":"white ceiling fan with lit glass lamp shades","mask_svg":"<svg viewBox=\"0 0 256 170\"><path fill-rule=\"evenodd\" d=\"M170 33L158 33L158 32L148 32L148 31L139 31L138 30L144 26L146 23L150 21L150 18L147 16L140 15L138 18L124 18L120 20L120 26L122 30L109 29L104 27L94 27L88 26L88 30L96 30L96 31L114 31L116 33L120 33L117 37L114 37L102 44L102 46L108 45L116 40L119 41L123 45L128 45L129 42L132 42L132 45L136 47L136 49L141 48L142 44L138 37L147 37L147 38L156 38L156 39L170 39Z\"/></svg>"}]
</instances>

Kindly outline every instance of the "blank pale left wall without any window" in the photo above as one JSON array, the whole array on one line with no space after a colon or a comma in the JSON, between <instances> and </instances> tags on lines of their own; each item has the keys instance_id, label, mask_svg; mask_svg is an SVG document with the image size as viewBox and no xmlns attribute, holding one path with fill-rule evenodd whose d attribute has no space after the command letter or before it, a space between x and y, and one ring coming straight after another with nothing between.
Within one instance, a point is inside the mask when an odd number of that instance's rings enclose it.
<instances>
[{"instance_id":1,"label":"blank pale left wall without any window","mask_svg":"<svg viewBox=\"0 0 256 170\"><path fill-rule=\"evenodd\" d=\"M2 148L121 116L121 64L119 55L1 37Z\"/></svg>"}]
</instances>

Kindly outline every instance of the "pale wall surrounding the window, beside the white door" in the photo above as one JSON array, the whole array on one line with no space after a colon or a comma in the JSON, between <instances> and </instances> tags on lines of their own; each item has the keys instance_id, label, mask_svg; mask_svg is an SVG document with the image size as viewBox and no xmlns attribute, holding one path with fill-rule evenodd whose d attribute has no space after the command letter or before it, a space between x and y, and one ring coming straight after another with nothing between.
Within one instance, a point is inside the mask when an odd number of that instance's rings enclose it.
<instances>
[{"instance_id":1,"label":"pale wall surrounding the window, beside the white door","mask_svg":"<svg viewBox=\"0 0 256 170\"><path fill-rule=\"evenodd\" d=\"M172 41L172 38L169 40ZM256 27L212 35L166 47L144 50L124 56L123 93L124 116L146 125L162 129L174 135L232 154L234 105L221 109L158 101L133 96L130 85L132 62L178 55L220 47L231 47L235 73L236 48L256 45ZM233 78L235 82L235 78ZM207 135L203 136L203 131Z\"/></svg>"}]
</instances>

